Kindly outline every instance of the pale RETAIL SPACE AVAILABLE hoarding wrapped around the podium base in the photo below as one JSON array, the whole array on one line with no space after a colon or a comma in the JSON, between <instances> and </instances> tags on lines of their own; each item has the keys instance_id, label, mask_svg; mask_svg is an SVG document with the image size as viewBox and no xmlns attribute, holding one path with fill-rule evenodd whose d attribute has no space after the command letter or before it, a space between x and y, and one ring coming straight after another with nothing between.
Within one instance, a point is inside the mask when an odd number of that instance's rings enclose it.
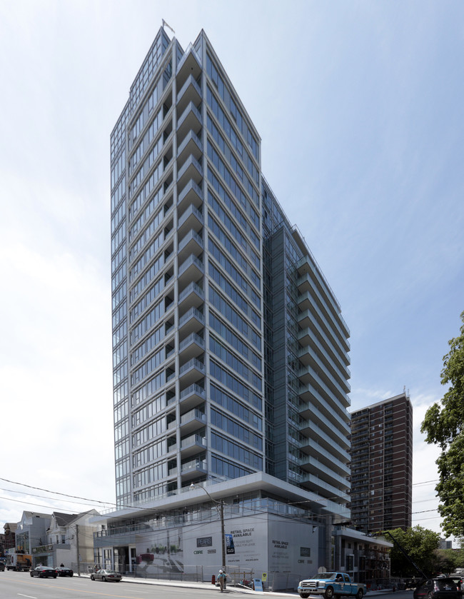
<instances>
[{"instance_id":1,"label":"pale RETAIL SPACE AVAILABLE hoarding wrapped around the podium base","mask_svg":"<svg viewBox=\"0 0 464 599\"><path fill-rule=\"evenodd\" d=\"M318 532L312 525L259 514L226 518L225 548L228 570L305 576L317 569ZM147 575L198 572L217 575L222 565L221 523L185 523L136 535L136 565ZM264 575L264 578L262 578Z\"/></svg>"}]
</instances>

